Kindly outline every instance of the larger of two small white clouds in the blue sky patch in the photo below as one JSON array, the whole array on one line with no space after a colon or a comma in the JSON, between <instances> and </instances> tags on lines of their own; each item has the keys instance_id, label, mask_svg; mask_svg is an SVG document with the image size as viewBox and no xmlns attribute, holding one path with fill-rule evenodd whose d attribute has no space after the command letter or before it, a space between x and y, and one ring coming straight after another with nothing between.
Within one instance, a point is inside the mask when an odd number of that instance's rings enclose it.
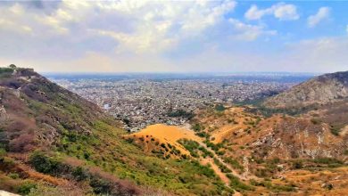
<instances>
[{"instance_id":1,"label":"larger of two small white clouds in the blue sky patch","mask_svg":"<svg viewBox=\"0 0 348 196\"><path fill-rule=\"evenodd\" d=\"M300 18L297 8L294 4L278 3L267 9L259 9L253 4L244 17L247 20L260 20L265 15L273 15L278 20L298 20Z\"/></svg>"}]
</instances>

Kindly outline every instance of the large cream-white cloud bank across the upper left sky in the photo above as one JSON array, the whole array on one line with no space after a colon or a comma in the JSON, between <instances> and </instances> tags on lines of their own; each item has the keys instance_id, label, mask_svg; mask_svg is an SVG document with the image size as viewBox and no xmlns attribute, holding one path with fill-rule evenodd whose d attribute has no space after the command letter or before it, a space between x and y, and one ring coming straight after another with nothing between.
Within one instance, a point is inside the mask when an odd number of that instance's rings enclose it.
<instances>
[{"instance_id":1,"label":"large cream-white cloud bank across the upper left sky","mask_svg":"<svg viewBox=\"0 0 348 196\"><path fill-rule=\"evenodd\" d=\"M0 7L0 11L4 11L4 19L0 22L8 26L0 29L0 34L2 30L9 31L18 26L20 28L16 30L23 33L23 39L30 31L32 40L35 40L33 37L40 43L60 40L58 45L85 45L90 39L106 37L113 40L109 45L114 45L113 51L117 53L168 52L187 40L210 39L211 30L216 28L228 29L227 33L220 32L222 36L247 41L274 34L264 27L236 22L235 29L230 29L226 15L236 8L236 2L232 0L63 0L49 14L39 9L27 9L20 3L7 8ZM88 45L100 48L97 44ZM84 47L79 49L83 52ZM93 51L94 48L87 50Z\"/></svg>"}]
</instances>

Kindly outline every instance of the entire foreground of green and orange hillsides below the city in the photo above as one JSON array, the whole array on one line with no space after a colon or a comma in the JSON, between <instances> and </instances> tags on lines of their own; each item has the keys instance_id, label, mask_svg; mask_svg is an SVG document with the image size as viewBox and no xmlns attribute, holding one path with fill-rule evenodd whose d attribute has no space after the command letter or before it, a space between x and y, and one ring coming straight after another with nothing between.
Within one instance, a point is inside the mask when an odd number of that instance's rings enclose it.
<instances>
[{"instance_id":1,"label":"entire foreground of green and orange hillsides below the city","mask_svg":"<svg viewBox=\"0 0 348 196\"><path fill-rule=\"evenodd\" d=\"M4 191L24 195L347 191L345 98L286 110L265 107L267 99L211 102L191 111L185 123L157 123L129 132L109 110L32 69L2 69L0 86Z\"/></svg>"}]
</instances>

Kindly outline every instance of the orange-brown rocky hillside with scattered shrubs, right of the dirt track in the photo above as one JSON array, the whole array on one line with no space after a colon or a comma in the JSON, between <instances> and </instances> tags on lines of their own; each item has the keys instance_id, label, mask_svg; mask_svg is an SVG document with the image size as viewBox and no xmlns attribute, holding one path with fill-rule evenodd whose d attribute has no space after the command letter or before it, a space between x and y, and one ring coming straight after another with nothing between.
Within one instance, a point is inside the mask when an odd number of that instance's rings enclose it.
<instances>
[{"instance_id":1,"label":"orange-brown rocky hillside with scattered shrubs, right of the dirt track","mask_svg":"<svg viewBox=\"0 0 348 196\"><path fill-rule=\"evenodd\" d=\"M348 190L348 129L337 134L317 115L309 112L293 117L278 113L265 117L244 106L224 111L204 109L197 112L194 120L195 127L199 127L196 132L204 135L208 150L215 151L214 156L237 173L234 176L249 179L243 183L253 191L242 186L241 192L344 194ZM327 115L323 114L323 118ZM344 118L338 119L343 122ZM226 167L220 169L231 172Z\"/></svg>"}]
</instances>

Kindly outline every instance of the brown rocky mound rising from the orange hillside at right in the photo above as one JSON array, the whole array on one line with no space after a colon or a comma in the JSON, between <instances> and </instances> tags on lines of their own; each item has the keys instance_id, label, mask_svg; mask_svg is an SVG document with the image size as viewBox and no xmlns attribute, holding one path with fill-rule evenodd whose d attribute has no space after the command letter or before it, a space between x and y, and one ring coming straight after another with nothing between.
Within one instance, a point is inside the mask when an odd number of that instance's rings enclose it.
<instances>
[{"instance_id":1,"label":"brown rocky mound rising from the orange hillside at right","mask_svg":"<svg viewBox=\"0 0 348 196\"><path fill-rule=\"evenodd\" d=\"M332 135L325 123L313 125L311 120L304 118L282 118L265 133L250 145L260 157L339 158L347 148L346 138Z\"/></svg>"}]
</instances>

